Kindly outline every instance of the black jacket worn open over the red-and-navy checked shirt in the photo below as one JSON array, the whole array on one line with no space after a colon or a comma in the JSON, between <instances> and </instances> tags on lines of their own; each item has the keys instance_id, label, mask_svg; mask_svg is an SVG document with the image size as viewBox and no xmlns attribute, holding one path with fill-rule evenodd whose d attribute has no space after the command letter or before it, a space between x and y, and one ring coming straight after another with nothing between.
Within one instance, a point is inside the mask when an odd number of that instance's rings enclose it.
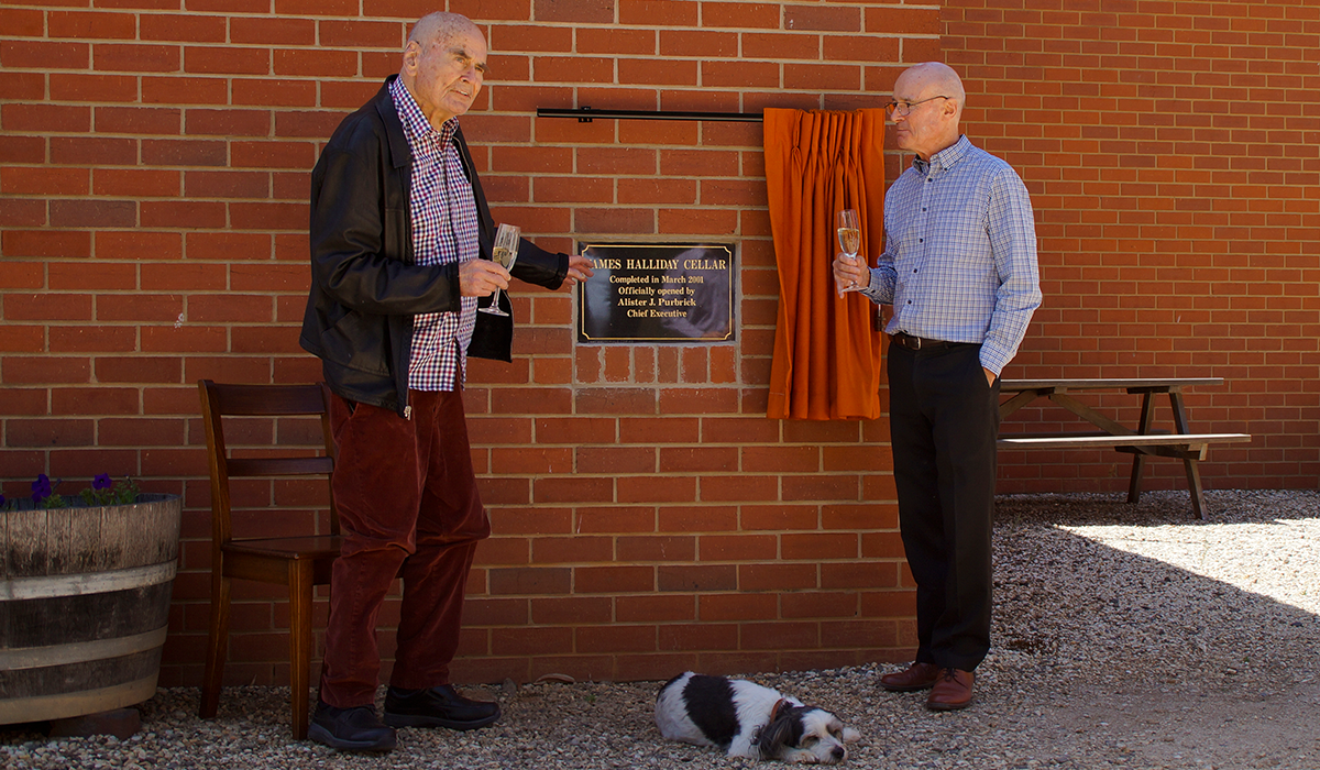
<instances>
[{"instance_id":1,"label":"black jacket worn open over the red-and-navy checked shirt","mask_svg":"<svg viewBox=\"0 0 1320 770\"><path fill-rule=\"evenodd\" d=\"M459 289L457 264L413 259L413 158L389 96L396 77L345 118L312 170L312 291L298 343L321 358L330 390L408 417L413 316L457 312ZM480 255L490 259L495 223L462 131L454 143L477 198ZM566 255L523 240L512 272L556 289L568 267ZM512 339L512 316L477 313L467 354L511 361Z\"/></svg>"}]
</instances>

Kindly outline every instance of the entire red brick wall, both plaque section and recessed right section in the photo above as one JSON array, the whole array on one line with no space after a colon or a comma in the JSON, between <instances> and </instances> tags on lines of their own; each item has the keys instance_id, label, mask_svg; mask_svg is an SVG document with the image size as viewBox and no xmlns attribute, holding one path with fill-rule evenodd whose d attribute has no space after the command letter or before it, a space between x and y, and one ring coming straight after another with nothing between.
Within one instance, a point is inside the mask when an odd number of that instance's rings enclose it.
<instances>
[{"instance_id":1,"label":"entire red brick wall, both plaque section and recessed right section","mask_svg":"<svg viewBox=\"0 0 1320 770\"><path fill-rule=\"evenodd\" d=\"M24 494L46 472L73 491L110 472L185 497L168 684L198 682L205 645L194 383L318 378L296 342L308 172L397 69L407 22L441 5L0 7L0 481ZM498 217L552 248L741 244L734 345L582 346L568 293L515 292L515 362L474 363L467 394L496 536L459 678L828 666L902 659L912 639L884 421L763 417L776 276L759 128L537 107L874 106L861 94L944 55L973 95L969 133L1038 209L1047 300L1006 375L1224 376L1191 396L1196 428L1257 438L1212 450L1206 485L1315 485L1313 4L1011 5L953 1L941 22L896 3L451 0L491 44L463 123ZM1003 460L1003 491L1118 491L1126 473L1113 453ZM1176 464L1150 473L1181 489ZM273 530L318 503L269 483L240 499L276 507L260 514ZM231 682L286 680L273 597L239 589Z\"/></svg>"}]
</instances>

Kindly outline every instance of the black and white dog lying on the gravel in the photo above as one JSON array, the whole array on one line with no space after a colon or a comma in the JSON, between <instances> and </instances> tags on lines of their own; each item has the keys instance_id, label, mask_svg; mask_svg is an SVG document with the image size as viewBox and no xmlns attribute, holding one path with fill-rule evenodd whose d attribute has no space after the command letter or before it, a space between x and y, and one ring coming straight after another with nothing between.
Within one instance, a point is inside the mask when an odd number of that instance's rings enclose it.
<instances>
[{"instance_id":1,"label":"black and white dog lying on the gravel","mask_svg":"<svg viewBox=\"0 0 1320 770\"><path fill-rule=\"evenodd\" d=\"M861 740L828 711L743 679L688 671L660 688L660 734L685 744L717 746L730 757L837 765L843 744Z\"/></svg>"}]
</instances>

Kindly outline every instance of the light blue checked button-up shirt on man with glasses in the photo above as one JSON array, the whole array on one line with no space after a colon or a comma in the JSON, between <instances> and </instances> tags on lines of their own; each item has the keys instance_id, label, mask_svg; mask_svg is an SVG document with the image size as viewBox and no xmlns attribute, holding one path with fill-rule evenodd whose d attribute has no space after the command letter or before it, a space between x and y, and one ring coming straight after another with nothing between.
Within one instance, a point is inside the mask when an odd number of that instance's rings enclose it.
<instances>
[{"instance_id":1,"label":"light blue checked button-up shirt on man with glasses","mask_svg":"<svg viewBox=\"0 0 1320 770\"><path fill-rule=\"evenodd\" d=\"M884 195L884 238L863 293L894 304L886 332L979 342L998 376L1040 306L1031 199L1012 166L966 136L915 158Z\"/></svg>"}]
</instances>

